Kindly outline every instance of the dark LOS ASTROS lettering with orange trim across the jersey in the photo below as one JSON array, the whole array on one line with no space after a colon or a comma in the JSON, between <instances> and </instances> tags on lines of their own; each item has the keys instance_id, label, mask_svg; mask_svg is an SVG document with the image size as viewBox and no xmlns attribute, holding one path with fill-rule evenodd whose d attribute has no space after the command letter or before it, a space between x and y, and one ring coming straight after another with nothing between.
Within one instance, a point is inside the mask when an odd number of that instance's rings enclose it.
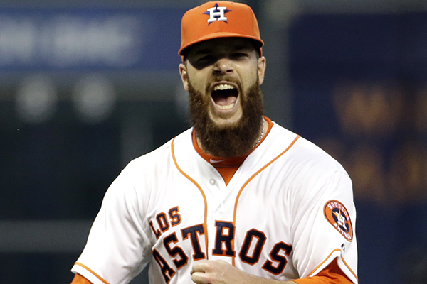
<instances>
[{"instance_id":1,"label":"dark LOS ASTROS lettering with orange trim across the jersey","mask_svg":"<svg viewBox=\"0 0 427 284\"><path fill-rule=\"evenodd\" d=\"M169 220L171 220L169 224ZM179 208L176 206L169 210L169 214L161 212L156 216L157 226L154 226L153 221L150 221L150 227L154 232L154 235L157 239L162 235L162 233L168 231L173 226L176 226L181 222L181 216L179 214ZM236 251L233 251L232 241L234 238L234 225L231 222L216 221L216 238L215 238L215 248L213 250L213 255L216 256L236 256ZM205 234L203 224L196 226L189 226L184 229L181 229L181 240L179 240L176 232L165 236L163 239L164 248L166 249L169 256L172 258L174 263L174 268L180 269L186 264L189 263L189 256L184 252L181 246L176 245L179 241L191 241L193 248L191 257L194 261L206 258L206 253L201 250L201 245L199 241L199 236ZM246 237L243 241L243 246L241 251L239 251L238 256L241 258L241 261L254 265L258 263L260 259L260 253L263 250L265 240L267 236L261 231L256 229L251 229L246 232ZM175 246L173 246L175 244ZM251 252L250 252L251 248ZM273 246L273 249L270 251L271 260L265 261L262 268L265 271L268 271L274 275L278 275L283 272L286 264L288 263L285 256L289 256L292 252L292 246L285 244L284 242L279 242ZM283 256L283 254L285 256ZM164 280L166 283L169 283L172 276L175 274L174 268L169 266L166 261L166 258L159 253L157 249L153 249L154 259L159 263L161 268Z\"/></svg>"}]
</instances>

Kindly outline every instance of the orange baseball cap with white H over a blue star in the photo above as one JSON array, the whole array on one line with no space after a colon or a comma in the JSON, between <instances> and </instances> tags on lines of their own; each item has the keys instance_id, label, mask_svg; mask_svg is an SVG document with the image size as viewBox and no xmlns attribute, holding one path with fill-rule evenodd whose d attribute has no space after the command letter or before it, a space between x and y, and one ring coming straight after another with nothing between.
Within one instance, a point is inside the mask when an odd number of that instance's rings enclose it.
<instances>
[{"instance_id":1,"label":"orange baseball cap with white H over a blue star","mask_svg":"<svg viewBox=\"0 0 427 284\"><path fill-rule=\"evenodd\" d=\"M260 48L258 21L251 7L229 1L212 1L190 9L181 21L181 48L178 54L184 56L186 48L194 43L213 38L249 38Z\"/></svg>"}]
</instances>

